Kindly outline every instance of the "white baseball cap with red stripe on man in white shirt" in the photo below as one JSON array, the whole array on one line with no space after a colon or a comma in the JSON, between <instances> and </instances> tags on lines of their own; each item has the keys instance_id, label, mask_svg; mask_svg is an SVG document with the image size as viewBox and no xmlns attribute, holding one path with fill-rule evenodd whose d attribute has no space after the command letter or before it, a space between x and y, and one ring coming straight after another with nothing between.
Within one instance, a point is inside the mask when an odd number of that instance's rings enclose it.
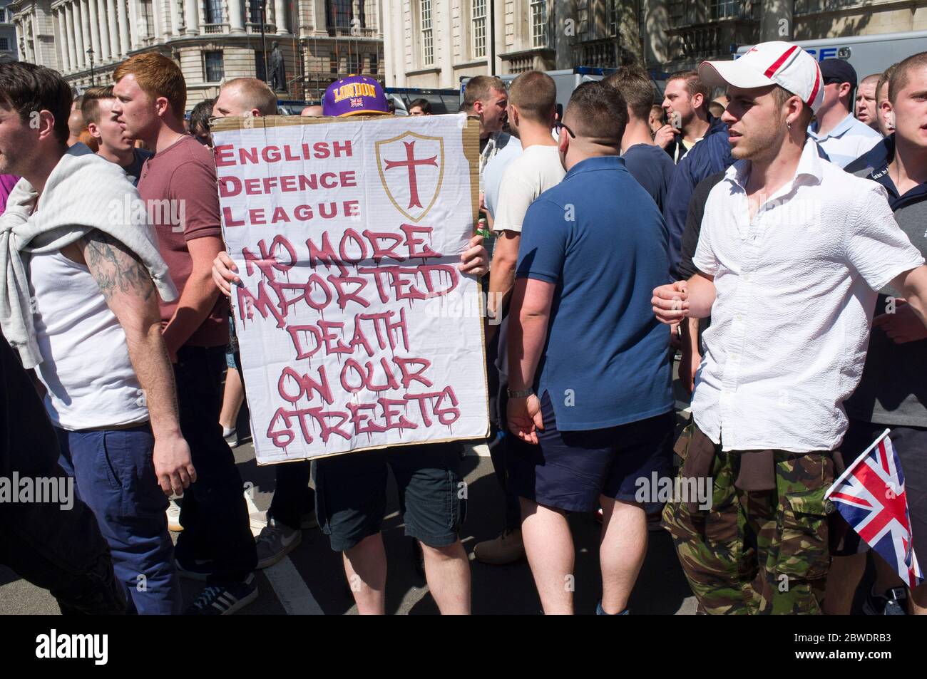
<instances>
[{"instance_id":1,"label":"white baseball cap with red stripe on man in white shirt","mask_svg":"<svg viewBox=\"0 0 927 679\"><path fill-rule=\"evenodd\" d=\"M800 96L815 113L824 101L818 62L797 44L779 40L756 44L732 61L703 61L698 74L710 87L732 85L750 90L781 85Z\"/></svg>"}]
</instances>

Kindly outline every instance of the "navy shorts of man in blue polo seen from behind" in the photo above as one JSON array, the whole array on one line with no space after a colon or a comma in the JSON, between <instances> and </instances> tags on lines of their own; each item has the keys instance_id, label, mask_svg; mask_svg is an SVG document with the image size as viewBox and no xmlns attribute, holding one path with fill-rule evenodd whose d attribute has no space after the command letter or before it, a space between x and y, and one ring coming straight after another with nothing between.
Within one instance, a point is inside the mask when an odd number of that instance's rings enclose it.
<instances>
[{"instance_id":1,"label":"navy shorts of man in blue polo seen from behind","mask_svg":"<svg viewBox=\"0 0 927 679\"><path fill-rule=\"evenodd\" d=\"M567 511L592 511L599 496L636 502L639 480L672 478L672 411L646 420L585 432L560 432L547 392L538 446L512 436L509 476L520 497ZM659 502L641 503L648 513Z\"/></svg>"}]
</instances>

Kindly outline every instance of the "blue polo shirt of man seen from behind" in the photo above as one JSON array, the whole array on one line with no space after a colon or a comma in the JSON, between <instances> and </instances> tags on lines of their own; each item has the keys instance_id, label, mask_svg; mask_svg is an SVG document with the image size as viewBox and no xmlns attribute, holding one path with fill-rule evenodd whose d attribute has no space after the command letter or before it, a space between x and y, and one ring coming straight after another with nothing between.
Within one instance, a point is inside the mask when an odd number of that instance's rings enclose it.
<instances>
[{"instance_id":1,"label":"blue polo shirt of man seen from behind","mask_svg":"<svg viewBox=\"0 0 927 679\"><path fill-rule=\"evenodd\" d=\"M668 238L620 157L579 162L528 207L515 278L556 284L534 387L549 392L558 430L673 408L669 331L650 303L667 283Z\"/></svg>"}]
</instances>

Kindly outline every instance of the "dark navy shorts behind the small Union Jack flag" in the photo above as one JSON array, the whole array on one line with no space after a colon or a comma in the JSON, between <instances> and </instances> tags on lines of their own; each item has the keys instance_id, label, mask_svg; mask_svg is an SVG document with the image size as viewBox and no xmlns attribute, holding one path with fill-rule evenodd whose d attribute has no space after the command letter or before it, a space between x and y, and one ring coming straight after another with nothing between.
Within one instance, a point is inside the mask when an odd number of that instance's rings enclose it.
<instances>
[{"instance_id":1,"label":"dark navy shorts behind the small Union Jack flag","mask_svg":"<svg viewBox=\"0 0 927 679\"><path fill-rule=\"evenodd\" d=\"M908 517L914 536L914 554L922 567L922 564L927 563L927 429L874 424L851 418L840 449L844 463L851 465L886 429L891 430L888 435L905 475L905 495L908 497ZM844 521L839 511L832 512L829 517L829 532L832 556L848 557L870 549Z\"/></svg>"}]
</instances>

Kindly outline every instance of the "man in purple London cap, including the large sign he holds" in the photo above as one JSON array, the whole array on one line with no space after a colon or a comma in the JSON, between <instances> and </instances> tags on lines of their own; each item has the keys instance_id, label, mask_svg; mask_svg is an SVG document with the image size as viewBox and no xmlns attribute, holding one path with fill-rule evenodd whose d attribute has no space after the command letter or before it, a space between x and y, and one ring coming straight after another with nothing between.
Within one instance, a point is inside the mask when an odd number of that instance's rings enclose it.
<instances>
[{"instance_id":1,"label":"man in purple London cap, including the large sign he holds","mask_svg":"<svg viewBox=\"0 0 927 679\"><path fill-rule=\"evenodd\" d=\"M259 461L320 458L318 520L332 548L344 552L362 613L385 607L380 526L391 467L405 531L422 543L438 609L466 613L459 439L485 435L486 392L476 372L484 370L482 321L461 320L450 302L476 295L476 282L461 273L487 270L481 239L463 235L472 228L476 135L470 148L463 117L432 116L407 130L408 120L386 118L379 83L364 76L329 87L324 112L384 118L213 130L226 241L245 264L236 275L222 253L213 278L226 295L237 283L256 451ZM252 167L252 157L263 162ZM371 158L379 181L357 165ZM388 232L397 221L397 233ZM440 253L464 243L462 263L451 266ZM438 317L430 315L433 302L448 303ZM466 341L473 328L477 346ZM376 449L322 457L364 448Z\"/></svg>"}]
</instances>

